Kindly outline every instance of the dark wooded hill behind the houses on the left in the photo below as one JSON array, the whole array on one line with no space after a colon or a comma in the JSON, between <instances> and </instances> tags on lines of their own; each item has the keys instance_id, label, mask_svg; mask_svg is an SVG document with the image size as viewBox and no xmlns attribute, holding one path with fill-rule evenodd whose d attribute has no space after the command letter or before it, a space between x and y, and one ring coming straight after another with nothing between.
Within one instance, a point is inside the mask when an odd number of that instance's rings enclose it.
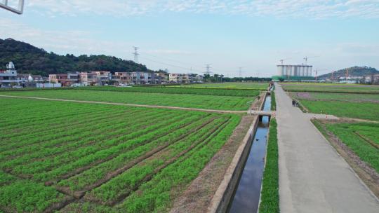
<instances>
[{"instance_id":1,"label":"dark wooded hill behind the houses on the left","mask_svg":"<svg viewBox=\"0 0 379 213\"><path fill-rule=\"evenodd\" d=\"M57 55L14 39L0 39L0 70L13 62L19 73L48 74L67 71L151 71L145 65L107 55Z\"/></svg>"}]
</instances>

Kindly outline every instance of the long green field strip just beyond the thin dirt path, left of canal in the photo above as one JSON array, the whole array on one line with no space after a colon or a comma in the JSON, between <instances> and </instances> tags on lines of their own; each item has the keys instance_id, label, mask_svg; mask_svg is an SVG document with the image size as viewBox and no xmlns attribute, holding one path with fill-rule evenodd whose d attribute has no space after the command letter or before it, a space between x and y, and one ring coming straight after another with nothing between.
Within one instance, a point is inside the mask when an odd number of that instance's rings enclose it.
<instances>
[{"instance_id":1,"label":"long green field strip just beyond the thin dirt path, left of canal","mask_svg":"<svg viewBox=\"0 0 379 213\"><path fill-rule=\"evenodd\" d=\"M147 92L112 92L97 90L35 90L4 91L0 95L74 99L96 102L125 104L147 104L197 109L247 110L255 97L234 97L222 95L187 95Z\"/></svg>"}]
</instances>

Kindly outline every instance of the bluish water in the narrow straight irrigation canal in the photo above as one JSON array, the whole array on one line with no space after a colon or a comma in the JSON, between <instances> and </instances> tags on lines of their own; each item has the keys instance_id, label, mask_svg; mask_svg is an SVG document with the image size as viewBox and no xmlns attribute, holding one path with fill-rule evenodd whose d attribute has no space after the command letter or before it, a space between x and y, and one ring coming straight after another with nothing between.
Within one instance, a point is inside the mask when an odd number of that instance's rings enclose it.
<instances>
[{"instance_id":1,"label":"bluish water in the narrow straight irrigation canal","mask_svg":"<svg viewBox=\"0 0 379 213\"><path fill-rule=\"evenodd\" d=\"M263 110L270 111L270 108L271 97L267 95ZM230 213L258 212L269 122L269 117L263 116L258 123L250 153L228 208Z\"/></svg>"}]
</instances>

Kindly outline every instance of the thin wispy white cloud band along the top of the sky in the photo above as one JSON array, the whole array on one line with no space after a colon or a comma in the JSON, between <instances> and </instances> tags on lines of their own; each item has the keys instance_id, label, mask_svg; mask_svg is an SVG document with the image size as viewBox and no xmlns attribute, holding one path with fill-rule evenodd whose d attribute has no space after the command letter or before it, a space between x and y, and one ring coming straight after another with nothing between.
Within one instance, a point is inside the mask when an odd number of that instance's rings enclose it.
<instances>
[{"instance_id":1,"label":"thin wispy white cloud band along the top of the sky","mask_svg":"<svg viewBox=\"0 0 379 213\"><path fill-rule=\"evenodd\" d=\"M378 0L34 0L26 10L46 15L154 15L173 13L218 13L232 15L305 18L379 18Z\"/></svg>"}]
</instances>

